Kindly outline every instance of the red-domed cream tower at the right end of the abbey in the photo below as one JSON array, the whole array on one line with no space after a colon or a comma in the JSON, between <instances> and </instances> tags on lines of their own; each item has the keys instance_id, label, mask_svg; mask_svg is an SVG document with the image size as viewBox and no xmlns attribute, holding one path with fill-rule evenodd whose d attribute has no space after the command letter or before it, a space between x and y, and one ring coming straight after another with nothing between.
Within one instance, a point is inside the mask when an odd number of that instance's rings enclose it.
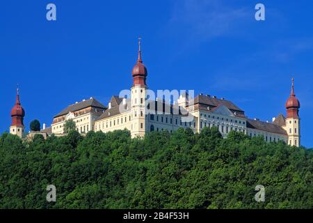
<instances>
[{"instance_id":1,"label":"red-domed cream tower at the right end of the abbey","mask_svg":"<svg viewBox=\"0 0 313 223\"><path fill-rule=\"evenodd\" d=\"M300 102L294 93L294 79L292 79L291 93L286 102L286 109L286 130L288 134L288 145L300 146Z\"/></svg>"}]
</instances>

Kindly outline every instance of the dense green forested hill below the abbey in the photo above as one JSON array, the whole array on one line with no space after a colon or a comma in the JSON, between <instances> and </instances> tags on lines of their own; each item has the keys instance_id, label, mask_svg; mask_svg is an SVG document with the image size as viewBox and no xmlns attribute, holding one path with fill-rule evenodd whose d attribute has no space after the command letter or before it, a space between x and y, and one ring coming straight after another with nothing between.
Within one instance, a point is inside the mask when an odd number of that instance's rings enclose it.
<instances>
[{"instance_id":1,"label":"dense green forested hill below the abbey","mask_svg":"<svg viewBox=\"0 0 313 223\"><path fill-rule=\"evenodd\" d=\"M216 128L0 137L0 208L313 208L312 173L310 149Z\"/></svg>"}]
</instances>

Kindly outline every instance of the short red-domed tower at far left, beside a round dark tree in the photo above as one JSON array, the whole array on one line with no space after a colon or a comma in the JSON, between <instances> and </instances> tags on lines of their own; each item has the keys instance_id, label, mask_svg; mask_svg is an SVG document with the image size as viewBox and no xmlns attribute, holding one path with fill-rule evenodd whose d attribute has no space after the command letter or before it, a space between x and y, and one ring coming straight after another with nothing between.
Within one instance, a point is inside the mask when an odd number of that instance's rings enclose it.
<instances>
[{"instance_id":1,"label":"short red-domed tower at far left, beside a round dark tree","mask_svg":"<svg viewBox=\"0 0 313 223\"><path fill-rule=\"evenodd\" d=\"M24 116L25 112L19 102L19 89L17 89L16 102L11 110L12 123L10 125L10 134L16 134L18 137L22 138L24 133Z\"/></svg>"}]
</instances>

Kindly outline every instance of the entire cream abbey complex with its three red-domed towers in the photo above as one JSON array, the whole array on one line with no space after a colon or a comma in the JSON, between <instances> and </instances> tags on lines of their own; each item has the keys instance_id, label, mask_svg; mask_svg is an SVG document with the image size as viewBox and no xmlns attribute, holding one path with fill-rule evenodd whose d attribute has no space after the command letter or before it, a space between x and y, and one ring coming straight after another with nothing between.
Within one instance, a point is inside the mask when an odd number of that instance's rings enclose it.
<instances>
[{"instance_id":1,"label":"entire cream abbey complex with its three red-domed towers","mask_svg":"<svg viewBox=\"0 0 313 223\"><path fill-rule=\"evenodd\" d=\"M223 137L227 137L230 131L236 131L250 137L261 135L268 142L282 140L291 146L300 146L300 102L294 92L294 79L285 104L287 115L279 114L272 122L263 122L248 118L243 109L233 102L216 96L200 94L191 97L185 92L174 102L150 98L140 42L138 59L131 74L133 83L129 97L113 95L107 105L95 98L76 102L56 114L51 127L42 132L63 135L65 122L69 119L74 121L81 134L127 129L132 137L143 137L152 131L173 132L178 128L200 132L204 127L216 126ZM17 93L17 102L11 112L11 134L22 137L24 115Z\"/></svg>"}]
</instances>

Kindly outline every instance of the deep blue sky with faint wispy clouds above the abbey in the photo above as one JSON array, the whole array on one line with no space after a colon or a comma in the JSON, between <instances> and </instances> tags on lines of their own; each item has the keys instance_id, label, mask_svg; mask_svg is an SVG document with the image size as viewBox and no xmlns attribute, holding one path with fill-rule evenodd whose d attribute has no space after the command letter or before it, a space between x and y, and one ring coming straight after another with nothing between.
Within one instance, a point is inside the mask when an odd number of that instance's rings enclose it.
<instances>
[{"instance_id":1,"label":"deep blue sky with faint wispy clouds above the abbey","mask_svg":"<svg viewBox=\"0 0 313 223\"><path fill-rule=\"evenodd\" d=\"M55 3L57 21L46 20ZM255 20L264 3L266 21ZM131 86L137 38L150 89L194 89L232 100L250 118L286 113L291 77L302 144L313 147L313 1L38 0L0 7L0 132L10 126L19 84L25 123L76 101Z\"/></svg>"}]
</instances>

